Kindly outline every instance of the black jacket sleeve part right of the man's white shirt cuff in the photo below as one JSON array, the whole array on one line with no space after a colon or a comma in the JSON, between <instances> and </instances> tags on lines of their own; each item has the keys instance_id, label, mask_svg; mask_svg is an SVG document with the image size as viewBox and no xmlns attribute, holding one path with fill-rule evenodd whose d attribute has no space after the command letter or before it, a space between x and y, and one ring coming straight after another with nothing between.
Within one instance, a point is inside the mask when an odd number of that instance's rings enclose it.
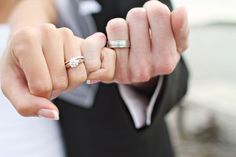
<instances>
[{"instance_id":1,"label":"black jacket sleeve part right of the man's white shirt cuff","mask_svg":"<svg viewBox=\"0 0 236 157\"><path fill-rule=\"evenodd\" d=\"M174 72L164 76L163 85L152 112L152 121L163 118L184 97L188 87L188 69L183 60Z\"/></svg>"}]
</instances>

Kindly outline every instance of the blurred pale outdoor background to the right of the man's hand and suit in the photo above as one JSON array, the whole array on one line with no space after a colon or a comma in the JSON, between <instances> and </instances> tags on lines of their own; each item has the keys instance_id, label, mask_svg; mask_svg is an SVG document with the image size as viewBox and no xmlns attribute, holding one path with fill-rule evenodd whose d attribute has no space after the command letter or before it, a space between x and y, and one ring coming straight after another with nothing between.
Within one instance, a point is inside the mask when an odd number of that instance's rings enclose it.
<instances>
[{"instance_id":1,"label":"blurred pale outdoor background to the right of the man's hand and suit","mask_svg":"<svg viewBox=\"0 0 236 157\"><path fill-rule=\"evenodd\" d=\"M173 2L191 25L189 91L167 117L177 157L235 157L236 1Z\"/></svg>"}]
</instances>

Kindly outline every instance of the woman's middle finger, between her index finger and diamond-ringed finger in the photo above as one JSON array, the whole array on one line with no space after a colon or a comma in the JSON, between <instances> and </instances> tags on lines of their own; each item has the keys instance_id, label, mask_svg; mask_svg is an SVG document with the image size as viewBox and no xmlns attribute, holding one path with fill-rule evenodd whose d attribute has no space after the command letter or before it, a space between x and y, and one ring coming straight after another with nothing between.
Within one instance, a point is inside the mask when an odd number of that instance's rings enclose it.
<instances>
[{"instance_id":1,"label":"woman's middle finger, between her index finger and diamond-ringed finger","mask_svg":"<svg viewBox=\"0 0 236 157\"><path fill-rule=\"evenodd\" d=\"M52 80L51 98L67 88L67 73L64 67L63 40L54 25L41 26L42 49Z\"/></svg>"}]
</instances>

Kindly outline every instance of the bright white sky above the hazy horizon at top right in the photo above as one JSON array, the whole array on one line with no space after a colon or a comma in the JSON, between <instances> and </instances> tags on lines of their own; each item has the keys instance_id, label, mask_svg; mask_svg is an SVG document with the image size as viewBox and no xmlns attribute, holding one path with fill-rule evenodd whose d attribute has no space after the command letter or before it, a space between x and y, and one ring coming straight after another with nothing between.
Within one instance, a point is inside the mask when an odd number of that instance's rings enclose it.
<instances>
[{"instance_id":1,"label":"bright white sky above the hazy horizon at top right","mask_svg":"<svg viewBox=\"0 0 236 157\"><path fill-rule=\"evenodd\" d=\"M236 0L172 0L186 6L191 25L236 23Z\"/></svg>"}]
</instances>

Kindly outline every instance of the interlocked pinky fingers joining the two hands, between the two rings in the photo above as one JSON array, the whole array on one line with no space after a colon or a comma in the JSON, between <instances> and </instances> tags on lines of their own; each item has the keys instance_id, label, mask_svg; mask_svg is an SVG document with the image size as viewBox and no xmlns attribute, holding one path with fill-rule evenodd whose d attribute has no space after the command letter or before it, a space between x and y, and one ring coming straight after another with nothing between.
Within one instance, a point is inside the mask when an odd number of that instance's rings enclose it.
<instances>
[{"instance_id":1,"label":"interlocked pinky fingers joining the two hands, between the two rings","mask_svg":"<svg viewBox=\"0 0 236 157\"><path fill-rule=\"evenodd\" d=\"M86 38L81 46L89 84L109 83L114 79L116 53L105 47L106 42L107 38L103 33L95 33Z\"/></svg>"}]
</instances>

